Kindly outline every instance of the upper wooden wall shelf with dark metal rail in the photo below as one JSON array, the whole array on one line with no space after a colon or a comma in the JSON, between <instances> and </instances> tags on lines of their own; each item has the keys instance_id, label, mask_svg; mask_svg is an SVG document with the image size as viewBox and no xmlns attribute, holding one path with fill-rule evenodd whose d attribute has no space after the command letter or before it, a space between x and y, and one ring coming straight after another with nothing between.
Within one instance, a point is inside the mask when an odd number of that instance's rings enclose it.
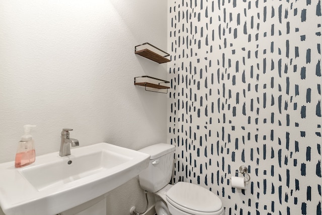
<instances>
[{"instance_id":1,"label":"upper wooden wall shelf with dark metal rail","mask_svg":"<svg viewBox=\"0 0 322 215\"><path fill-rule=\"evenodd\" d=\"M157 63L166 63L171 61L170 59L166 58L170 56L170 54L155 47L154 45L151 45L150 43L143 43L142 45L135 46L135 54L141 55Z\"/></svg>"}]
</instances>

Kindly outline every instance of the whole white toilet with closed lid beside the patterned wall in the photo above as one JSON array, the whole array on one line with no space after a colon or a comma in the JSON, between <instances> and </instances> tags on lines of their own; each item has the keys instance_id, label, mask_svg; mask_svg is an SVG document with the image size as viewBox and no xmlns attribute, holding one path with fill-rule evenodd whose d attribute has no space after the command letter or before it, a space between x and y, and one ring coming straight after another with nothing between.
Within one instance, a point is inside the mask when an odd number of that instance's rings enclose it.
<instances>
[{"instance_id":1,"label":"whole white toilet with closed lid beside the patterned wall","mask_svg":"<svg viewBox=\"0 0 322 215\"><path fill-rule=\"evenodd\" d=\"M139 181L142 189L155 194L157 215L224 215L221 200L213 192L187 182L169 184L175 146L156 144L139 151L151 156Z\"/></svg>"}]
</instances>

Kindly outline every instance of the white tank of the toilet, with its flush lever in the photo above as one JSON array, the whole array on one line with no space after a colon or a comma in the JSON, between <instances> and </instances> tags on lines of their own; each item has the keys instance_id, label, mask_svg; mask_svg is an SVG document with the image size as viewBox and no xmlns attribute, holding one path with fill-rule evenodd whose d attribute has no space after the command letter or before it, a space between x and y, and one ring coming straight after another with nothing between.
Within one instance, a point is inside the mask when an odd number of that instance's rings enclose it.
<instances>
[{"instance_id":1,"label":"white tank of the toilet, with its flush lever","mask_svg":"<svg viewBox=\"0 0 322 215\"><path fill-rule=\"evenodd\" d=\"M140 186L149 192L156 192L169 184L172 176L175 146L155 144L139 150L149 154L149 166L139 174Z\"/></svg>"}]
</instances>

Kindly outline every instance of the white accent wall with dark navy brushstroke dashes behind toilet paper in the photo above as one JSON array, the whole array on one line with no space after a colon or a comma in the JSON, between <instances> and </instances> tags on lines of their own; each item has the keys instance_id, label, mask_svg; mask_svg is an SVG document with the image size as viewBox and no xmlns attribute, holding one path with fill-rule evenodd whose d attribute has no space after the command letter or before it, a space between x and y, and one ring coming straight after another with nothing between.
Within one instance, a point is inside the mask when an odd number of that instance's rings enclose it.
<instances>
[{"instance_id":1,"label":"white accent wall with dark navy brushstroke dashes behind toilet paper","mask_svg":"<svg viewBox=\"0 0 322 215\"><path fill-rule=\"evenodd\" d=\"M321 215L321 0L168 4L172 183L229 215ZM229 180L240 165L244 190Z\"/></svg>"}]
</instances>

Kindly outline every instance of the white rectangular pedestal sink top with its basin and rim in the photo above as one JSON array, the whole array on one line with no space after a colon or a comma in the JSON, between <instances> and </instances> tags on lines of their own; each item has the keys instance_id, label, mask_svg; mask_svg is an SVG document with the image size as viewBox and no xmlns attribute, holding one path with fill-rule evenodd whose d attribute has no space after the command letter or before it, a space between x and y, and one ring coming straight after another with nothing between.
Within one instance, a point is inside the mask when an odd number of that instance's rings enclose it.
<instances>
[{"instance_id":1,"label":"white rectangular pedestal sink top with its basin and rim","mask_svg":"<svg viewBox=\"0 0 322 215\"><path fill-rule=\"evenodd\" d=\"M37 156L15 168L0 164L0 206L11 214L57 214L124 184L148 166L149 155L102 142Z\"/></svg>"}]
</instances>

